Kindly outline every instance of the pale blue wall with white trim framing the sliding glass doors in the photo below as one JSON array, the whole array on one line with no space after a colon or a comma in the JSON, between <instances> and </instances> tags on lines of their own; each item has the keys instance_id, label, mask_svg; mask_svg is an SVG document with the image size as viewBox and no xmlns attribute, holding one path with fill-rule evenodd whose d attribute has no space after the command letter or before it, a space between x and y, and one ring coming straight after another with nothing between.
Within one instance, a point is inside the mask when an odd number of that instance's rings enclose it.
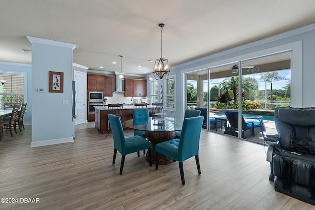
<instances>
[{"instance_id":1,"label":"pale blue wall with white trim framing the sliding glass doors","mask_svg":"<svg viewBox=\"0 0 315 210\"><path fill-rule=\"evenodd\" d=\"M176 95L180 95L176 97L176 112L166 111L166 113L171 117L183 117L186 109L184 104L186 95L183 91L185 90L184 73L286 50L292 51L291 104L294 107L314 106L314 37L315 24L312 24L172 67L171 74L176 74ZM211 41L213 40L209 40L209 42ZM159 85L163 85L163 83ZM148 93L150 93L150 88L148 88ZM148 97L150 96L148 95Z\"/></svg>"}]
</instances>

